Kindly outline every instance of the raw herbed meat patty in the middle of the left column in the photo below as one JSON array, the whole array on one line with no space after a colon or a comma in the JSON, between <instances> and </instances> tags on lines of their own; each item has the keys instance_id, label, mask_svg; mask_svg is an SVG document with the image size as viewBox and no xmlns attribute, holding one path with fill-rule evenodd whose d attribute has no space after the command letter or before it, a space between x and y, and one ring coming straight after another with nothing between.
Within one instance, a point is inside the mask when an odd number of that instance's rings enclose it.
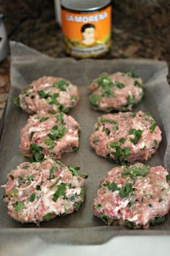
<instances>
[{"instance_id":1,"label":"raw herbed meat patty in the middle of the left column","mask_svg":"<svg viewBox=\"0 0 170 256\"><path fill-rule=\"evenodd\" d=\"M20 148L23 155L33 157L33 161L41 161L44 157L59 159L61 153L78 150L79 130L72 116L40 111L30 116L22 128Z\"/></svg>"}]
</instances>

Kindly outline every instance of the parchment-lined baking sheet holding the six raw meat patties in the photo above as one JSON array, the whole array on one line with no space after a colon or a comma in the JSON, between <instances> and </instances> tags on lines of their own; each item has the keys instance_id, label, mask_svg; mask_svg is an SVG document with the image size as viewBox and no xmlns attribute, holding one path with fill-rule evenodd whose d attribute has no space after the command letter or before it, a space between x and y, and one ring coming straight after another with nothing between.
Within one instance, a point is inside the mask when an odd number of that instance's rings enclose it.
<instances>
[{"instance_id":1,"label":"parchment-lined baking sheet holding the six raw meat patties","mask_svg":"<svg viewBox=\"0 0 170 256\"><path fill-rule=\"evenodd\" d=\"M163 141L158 152L147 161L150 166L163 165L170 171L170 90L166 75L167 64L164 61L151 60L81 60L71 58L53 59L40 54L20 43L11 43L12 47L12 88L6 109L4 131L0 144L0 182L6 183L6 174L19 163L27 161L19 152L19 131L27 121L28 115L12 103L12 98L19 94L24 85L29 84L43 75L61 76L79 86L81 101L71 114L81 124L80 148L76 153L62 156L61 161L70 166L81 166L82 174L89 174L86 180L86 202L78 212L55 218L49 222L22 224L7 215L7 209L2 198L0 200L0 235L41 236L46 241L71 244L101 244L112 236L122 235L155 235L170 234L170 214L161 226L153 226L149 230L134 231L122 226L104 226L104 223L93 217L91 205L97 195L99 182L107 171L115 166L107 159L100 158L90 148L89 136L92 127L101 116L94 111L88 101L86 85L102 72L133 71L143 78L146 85L144 101L134 108L134 111L151 112L161 127ZM3 189L0 190L3 195ZM9 236L9 237L10 237Z\"/></svg>"}]
</instances>

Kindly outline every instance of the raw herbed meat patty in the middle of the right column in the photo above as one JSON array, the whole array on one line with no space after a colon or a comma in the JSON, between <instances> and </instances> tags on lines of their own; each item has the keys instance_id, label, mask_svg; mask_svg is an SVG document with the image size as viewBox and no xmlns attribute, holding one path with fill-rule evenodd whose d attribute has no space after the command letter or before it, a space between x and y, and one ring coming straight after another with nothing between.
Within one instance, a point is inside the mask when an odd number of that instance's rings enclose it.
<instances>
[{"instance_id":1,"label":"raw herbed meat patty in the middle of the right column","mask_svg":"<svg viewBox=\"0 0 170 256\"><path fill-rule=\"evenodd\" d=\"M97 155L120 163L148 160L160 142L161 130L143 111L101 116L90 137Z\"/></svg>"}]
</instances>

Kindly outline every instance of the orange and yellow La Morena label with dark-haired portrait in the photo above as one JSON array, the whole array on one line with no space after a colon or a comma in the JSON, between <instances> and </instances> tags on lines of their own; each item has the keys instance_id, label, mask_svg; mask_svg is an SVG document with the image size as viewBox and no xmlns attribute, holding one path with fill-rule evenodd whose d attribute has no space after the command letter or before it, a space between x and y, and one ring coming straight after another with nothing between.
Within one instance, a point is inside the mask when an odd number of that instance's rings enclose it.
<instances>
[{"instance_id":1,"label":"orange and yellow La Morena label with dark-haired portrait","mask_svg":"<svg viewBox=\"0 0 170 256\"><path fill-rule=\"evenodd\" d=\"M111 6L86 14L62 9L66 53L78 58L107 53L111 38Z\"/></svg>"}]
</instances>

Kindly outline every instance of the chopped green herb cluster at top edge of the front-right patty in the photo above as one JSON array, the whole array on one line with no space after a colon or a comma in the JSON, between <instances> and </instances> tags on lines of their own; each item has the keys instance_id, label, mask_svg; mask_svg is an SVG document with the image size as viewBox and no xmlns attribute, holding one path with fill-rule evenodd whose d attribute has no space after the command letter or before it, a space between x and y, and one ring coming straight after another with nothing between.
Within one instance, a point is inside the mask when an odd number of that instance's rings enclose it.
<instances>
[{"instance_id":1,"label":"chopped green herb cluster at top edge of the front-right patty","mask_svg":"<svg viewBox=\"0 0 170 256\"><path fill-rule=\"evenodd\" d=\"M149 166L141 167L125 167L122 172L122 176L130 175L132 179L135 179L136 176L146 176L149 171Z\"/></svg>"}]
</instances>

